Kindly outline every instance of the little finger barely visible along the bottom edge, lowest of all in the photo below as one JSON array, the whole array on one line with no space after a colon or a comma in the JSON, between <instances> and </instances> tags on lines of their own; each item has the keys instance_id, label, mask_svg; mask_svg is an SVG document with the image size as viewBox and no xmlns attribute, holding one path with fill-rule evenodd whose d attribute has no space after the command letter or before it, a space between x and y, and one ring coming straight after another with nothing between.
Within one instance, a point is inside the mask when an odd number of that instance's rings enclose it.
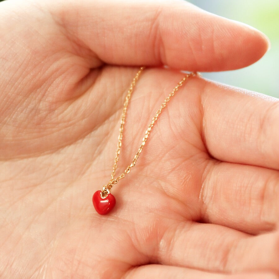
<instances>
[{"instance_id":1,"label":"little finger barely visible along the bottom edge, lowest of all","mask_svg":"<svg viewBox=\"0 0 279 279\"><path fill-rule=\"evenodd\" d=\"M159 264L148 264L136 267L127 272L123 279L142 279L142 278L164 278L164 279L181 279L181 278L199 278L199 279L278 279L276 274L271 272L262 273L240 273L240 274L220 274L205 272L190 268L181 268L175 266L166 266Z\"/></svg>"}]
</instances>

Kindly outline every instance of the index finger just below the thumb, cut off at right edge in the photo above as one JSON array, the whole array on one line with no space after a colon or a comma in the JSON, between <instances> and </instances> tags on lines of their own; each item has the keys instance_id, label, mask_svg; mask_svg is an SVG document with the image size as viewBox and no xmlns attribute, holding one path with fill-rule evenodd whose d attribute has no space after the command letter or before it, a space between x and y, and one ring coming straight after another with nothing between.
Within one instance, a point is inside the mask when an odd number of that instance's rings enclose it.
<instances>
[{"instance_id":1,"label":"index finger just below the thumb, cut off at right edge","mask_svg":"<svg viewBox=\"0 0 279 279\"><path fill-rule=\"evenodd\" d=\"M279 169L279 100L255 92L197 80L203 137L209 153L221 160Z\"/></svg>"}]
</instances>

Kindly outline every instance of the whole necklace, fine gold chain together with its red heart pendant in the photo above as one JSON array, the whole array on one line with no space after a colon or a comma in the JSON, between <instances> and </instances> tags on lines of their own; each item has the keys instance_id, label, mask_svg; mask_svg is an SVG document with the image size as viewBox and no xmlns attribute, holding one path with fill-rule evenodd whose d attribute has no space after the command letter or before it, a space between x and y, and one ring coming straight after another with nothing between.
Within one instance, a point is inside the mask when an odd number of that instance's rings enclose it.
<instances>
[{"instance_id":1,"label":"whole necklace, fine gold chain together with its red heart pendant","mask_svg":"<svg viewBox=\"0 0 279 279\"><path fill-rule=\"evenodd\" d=\"M167 102L169 102L170 98L175 94L175 91L177 91L179 89L179 87L182 86L182 84L185 82L185 80L187 78L189 78L191 76L199 75L199 73L186 74L186 76L170 92L170 94L166 97L164 102L161 104L161 107L157 110L155 116L152 118L151 123L149 124L147 130L145 131L145 135L144 135L144 138L142 139L142 143L141 143L141 145L138 149L138 152L136 153L132 163L129 166L127 166L126 170L124 170L124 172L121 175L119 175L116 179L114 179L115 171L117 169L118 156L120 154L120 148L122 145L122 133L123 133L123 127L124 127L124 123L125 123L124 120L125 120L125 116L126 116L127 106L128 106L131 94L133 92L135 83L138 80L139 75L144 70L144 68L145 67L140 67L139 71L136 73L136 75L130 85L130 88L128 90L126 99L125 99L124 107L122 110L119 136L118 136L118 144L117 144L117 150L116 150L116 155L115 155L115 159L114 159L113 171L111 173L111 179L108 181L108 183L106 185L103 186L102 190L96 191L92 197L92 201L93 201L95 210L101 215L108 214L108 212L110 212L113 209L113 207L115 206L116 200L115 200L115 197L110 193L110 190L114 184L116 184L120 179L124 178L125 175L130 172L131 168L135 166L135 163L137 162L139 155L140 155L142 149L144 148L144 144L148 138L148 135L149 135L154 123L157 121L157 118L161 114L163 108L166 107Z\"/></svg>"}]
</instances>

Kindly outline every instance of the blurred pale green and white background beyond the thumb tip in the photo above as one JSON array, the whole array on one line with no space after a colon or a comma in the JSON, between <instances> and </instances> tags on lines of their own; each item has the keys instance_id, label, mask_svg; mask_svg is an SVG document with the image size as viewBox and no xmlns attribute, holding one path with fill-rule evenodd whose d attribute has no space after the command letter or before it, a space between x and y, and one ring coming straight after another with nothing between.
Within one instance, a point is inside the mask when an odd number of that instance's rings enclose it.
<instances>
[{"instance_id":1,"label":"blurred pale green and white background beyond the thumb tip","mask_svg":"<svg viewBox=\"0 0 279 279\"><path fill-rule=\"evenodd\" d=\"M279 98L279 1L278 0L188 0L196 6L249 24L265 33L271 49L244 69L203 73L205 78Z\"/></svg>"}]
</instances>

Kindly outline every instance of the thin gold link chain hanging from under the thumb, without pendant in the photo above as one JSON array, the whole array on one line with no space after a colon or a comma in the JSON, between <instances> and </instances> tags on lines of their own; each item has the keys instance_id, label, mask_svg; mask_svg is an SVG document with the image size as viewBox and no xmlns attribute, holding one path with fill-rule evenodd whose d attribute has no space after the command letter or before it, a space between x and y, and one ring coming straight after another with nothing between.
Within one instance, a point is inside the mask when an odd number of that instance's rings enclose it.
<instances>
[{"instance_id":1,"label":"thin gold link chain hanging from under the thumb, without pendant","mask_svg":"<svg viewBox=\"0 0 279 279\"><path fill-rule=\"evenodd\" d=\"M111 179L109 180L109 182L106 185L103 186L103 190L102 190L103 195L106 195L108 193L108 191L110 191L110 189L113 187L113 185L116 184L119 179L124 178L125 175L130 172L131 168L135 166L135 163L137 162L137 160L139 158L139 155L140 155L142 149L144 148L144 144L145 144L145 142L148 138L148 135L150 134L150 131L151 131L154 123L157 121L157 118L160 115L160 113L162 112L163 108L166 107L167 102L169 102L170 98L173 95L175 95L175 91L177 91L179 89L179 87L182 86L182 84L185 82L185 80L187 78L189 78L190 76L200 75L199 73L188 73L188 74L186 74L186 76L170 92L170 94L166 97L164 102L161 104L161 107L157 110L155 116L152 118L151 123L149 124L147 130L145 131L145 135L142 139L142 143L141 143L141 145L139 147L139 150L136 153L132 163L129 166L127 166L126 170L124 170L124 172L121 175L119 175L116 179L114 179L115 171L117 169L118 157L119 157L119 154L120 154L120 148L121 148L121 145L122 145L122 133L123 133L123 127L124 127L124 123L125 123L125 116L126 116L127 106L128 106L131 94L133 92L135 83L138 80L139 75L144 70L144 68L145 67L140 67L139 71L136 73L136 75L135 75L135 77L134 77L134 79L133 79L133 81L132 81L132 83L129 87L128 94L127 94L126 99L125 99L124 107L123 107L123 110L122 110L122 116L121 116L121 122L120 122L120 128L119 128L119 136L118 136L118 144L117 144L117 150L116 150L115 159L114 159L113 171L111 173Z\"/></svg>"}]
</instances>

